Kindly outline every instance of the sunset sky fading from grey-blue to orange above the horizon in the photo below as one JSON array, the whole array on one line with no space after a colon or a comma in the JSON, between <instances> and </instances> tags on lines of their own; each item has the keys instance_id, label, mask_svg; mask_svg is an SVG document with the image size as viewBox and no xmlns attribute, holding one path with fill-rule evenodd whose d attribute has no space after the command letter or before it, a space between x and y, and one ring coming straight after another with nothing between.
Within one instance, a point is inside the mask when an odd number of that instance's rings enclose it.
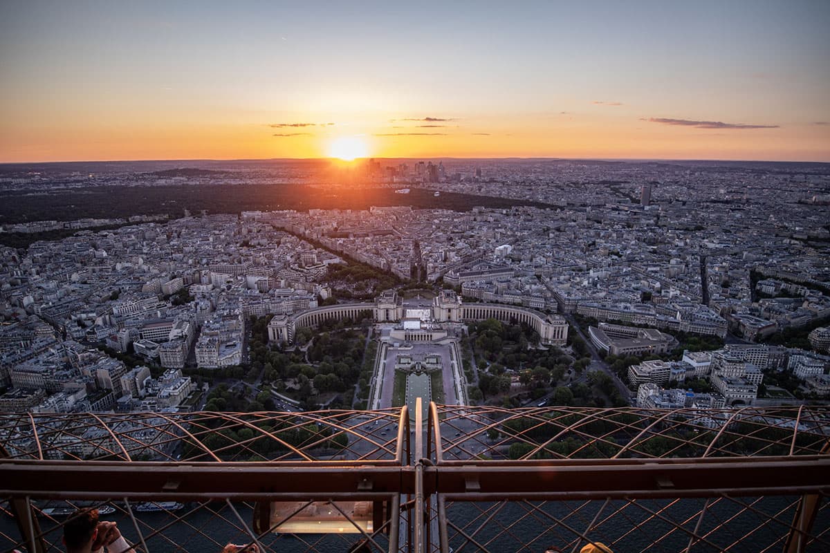
<instances>
[{"instance_id":1,"label":"sunset sky fading from grey-blue to orange above the horizon","mask_svg":"<svg viewBox=\"0 0 830 553\"><path fill-rule=\"evenodd\" d=\"M830 162L830 2L0 2L0 162L317 158L343 137Z\"/></svg>"}]
</instances>

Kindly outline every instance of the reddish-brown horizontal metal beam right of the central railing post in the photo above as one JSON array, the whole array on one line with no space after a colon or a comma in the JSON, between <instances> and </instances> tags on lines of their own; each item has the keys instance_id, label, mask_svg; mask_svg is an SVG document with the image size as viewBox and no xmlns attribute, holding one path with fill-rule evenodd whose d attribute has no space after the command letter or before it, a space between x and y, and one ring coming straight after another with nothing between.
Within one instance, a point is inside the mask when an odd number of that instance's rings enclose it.
<instances>
[{"instance_id":1,"label":"reddish-brown horizontal metal beam right of the central railing post","mask_svg":"<svg viewBox=\"0 0 830 553\"><path fill-rule=\"evenodd\" d=\"M830 458L479 461L425 469L424 492L505 498L707 497L830 491Z\"/></svg>"}]
</instances>

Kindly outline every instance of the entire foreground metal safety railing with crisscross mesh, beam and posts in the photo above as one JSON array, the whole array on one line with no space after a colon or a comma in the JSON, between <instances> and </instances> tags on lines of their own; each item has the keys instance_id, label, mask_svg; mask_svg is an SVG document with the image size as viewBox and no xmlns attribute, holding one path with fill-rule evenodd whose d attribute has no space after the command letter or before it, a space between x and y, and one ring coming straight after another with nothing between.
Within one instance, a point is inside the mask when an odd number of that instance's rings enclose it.
<instances>
[{"instance_id":1,"label":"entire foreground metal safety railing with crisscross mesh, beam and posts","mask_svg":"<svg viewBox=\"0 0 830 553\"><path fill-rule=\"evenodd\" d=\"M830 551L825 407L422 417L2 415L0 551L86 505L136 551Z\"/></svg>"}]
</instances>

